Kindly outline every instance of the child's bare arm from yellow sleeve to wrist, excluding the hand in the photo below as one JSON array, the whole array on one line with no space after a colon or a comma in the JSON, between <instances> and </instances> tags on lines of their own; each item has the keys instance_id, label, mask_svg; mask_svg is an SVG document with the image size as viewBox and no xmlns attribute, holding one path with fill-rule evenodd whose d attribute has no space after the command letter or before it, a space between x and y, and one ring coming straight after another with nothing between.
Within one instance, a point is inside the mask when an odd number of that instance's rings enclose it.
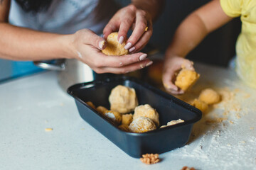
<instances>
[{"instance_id":1,"label":"child's bare arm from yellow sleeve to wrist, excluding the hand","mask_svg":"<svg viewBox=\"0 0 256 170\"><path fill-rule=\"evenodd\" d=\"M208 33L220 28L233 18L227 16L220 6L220 1L210 1L189 15L176 30L173 40L166 51L166 56L185 57Z\"/></svg>"}]
</instances>

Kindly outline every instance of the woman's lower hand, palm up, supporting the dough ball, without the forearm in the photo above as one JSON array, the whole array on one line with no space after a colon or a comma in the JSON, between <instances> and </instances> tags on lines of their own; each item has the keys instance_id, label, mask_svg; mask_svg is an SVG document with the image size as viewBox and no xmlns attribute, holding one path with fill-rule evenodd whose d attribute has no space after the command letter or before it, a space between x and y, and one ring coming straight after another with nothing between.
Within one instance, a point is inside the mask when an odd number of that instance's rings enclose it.
<instances>
[{"instance_id":1,"label":"woman's lower hand, palm up, supporting the dough ball, without the forearm","mask_svg":"<svg viewBox=\"0 0 256 170\"><path fill-rule=\"evenodd\" d=\"M88 29L78 30L70 36L71 58L84 62L97 73L124 74L153 63L142 52L123 56L104 55L101 50L105 48L105 40Z\"/></svg>"}]
</instances>

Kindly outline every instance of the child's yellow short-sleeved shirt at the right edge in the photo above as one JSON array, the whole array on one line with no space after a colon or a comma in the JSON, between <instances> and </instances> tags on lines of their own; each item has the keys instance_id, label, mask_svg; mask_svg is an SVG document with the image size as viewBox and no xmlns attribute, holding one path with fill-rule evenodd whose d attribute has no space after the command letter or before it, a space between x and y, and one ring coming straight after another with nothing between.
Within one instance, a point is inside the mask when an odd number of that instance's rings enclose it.
<instances>
[{"instance_id":1,"label":"child's yellow short-sleeved shirt at the right edge","mask_svg":"<svg viewBox=\"0 0 256 170\"><path fill-rule=\"evenodd\" d=\"M236 71L246 84L256 88L256 0L220 0L220 5L228 16L241 18Z\"/></svg>"}]
</instances>

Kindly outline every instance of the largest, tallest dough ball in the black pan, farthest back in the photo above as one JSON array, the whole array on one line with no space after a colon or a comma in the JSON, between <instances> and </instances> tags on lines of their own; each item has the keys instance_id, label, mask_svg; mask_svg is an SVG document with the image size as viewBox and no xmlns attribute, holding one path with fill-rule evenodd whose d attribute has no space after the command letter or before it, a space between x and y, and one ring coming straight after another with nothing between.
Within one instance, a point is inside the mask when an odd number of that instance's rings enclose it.
<instances>
[{"instance_id":1,"label":"largest, tallest dough ball in the black pan, farthest back","mask_svg":"<svg viewBox=\"0 0 256 170\"><path fill-rule=\"evenodd\" d=\"M110 110L119 113L130 113L138 106L135 90L127 86L118 85L112 89L110 97Z\"/></svg>"}]
</instances>

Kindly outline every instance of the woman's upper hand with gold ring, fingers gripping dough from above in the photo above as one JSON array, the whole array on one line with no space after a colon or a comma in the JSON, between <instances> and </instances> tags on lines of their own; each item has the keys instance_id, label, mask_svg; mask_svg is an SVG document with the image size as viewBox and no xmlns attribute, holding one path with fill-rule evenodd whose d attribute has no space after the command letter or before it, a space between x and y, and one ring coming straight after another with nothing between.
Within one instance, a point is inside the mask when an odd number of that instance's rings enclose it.
<instances>
[{"instance_id":1,"label":"woman's upper hand with gold ring, fingers gripping dough from above","mask_svg":"<svg viewBox=\"0 0 256 170\"><path fill-rule=\"evenodd\" d=\"M134 5L121 8L114 14L103 30L104 38L106 39L110 33L118 31L117 40L122 44L127 38L129 28L133 31L124 48L131 53L139 52L149 42L153 27L151 15Z\"/></svg>"}]
</instances>

